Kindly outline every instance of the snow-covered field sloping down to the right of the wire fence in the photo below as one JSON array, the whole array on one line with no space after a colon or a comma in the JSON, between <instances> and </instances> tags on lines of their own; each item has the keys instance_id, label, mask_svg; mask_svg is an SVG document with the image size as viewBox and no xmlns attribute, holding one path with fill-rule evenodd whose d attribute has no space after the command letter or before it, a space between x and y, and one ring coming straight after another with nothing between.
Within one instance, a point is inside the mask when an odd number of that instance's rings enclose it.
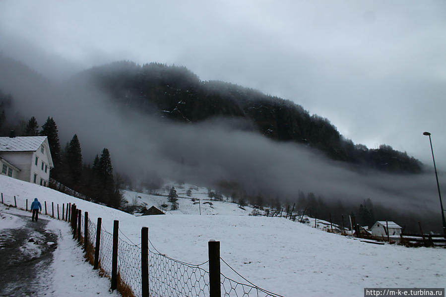
<instances>
[{"instance_id":1,"label":"snow-covered field sloping down to the right of the wire fence","mask_svg":"<svg viewBox=\"0 0 446 297\"><path fill-rule=\"evenodd\" d=\"M113 230L113 221L119 220L121 231L135 243L140 242L141 228L149 227L150 241L157 250L189 263L205 262L207 241L219 240L220 256L237 272L283 296L363 296L364 288L444 288L446 284L445 248L376 245L280 217L248 216L252 209L244 211L230 202L212 201L212 207L204 204L207 192L200 197L201 216L192 200L179 199L177 211L135 217L4 176L0 176L0 191L6 203L13 204L15 195L23 208L25 199L34 197L49 205L76 203L89 212L92 221L101 217L108 231ZM167 201L167 197L134 192L125 195L136 196L148 207ZM222 264L221 270L240 280L226 265Z\"/></svg>"}]
</instances>

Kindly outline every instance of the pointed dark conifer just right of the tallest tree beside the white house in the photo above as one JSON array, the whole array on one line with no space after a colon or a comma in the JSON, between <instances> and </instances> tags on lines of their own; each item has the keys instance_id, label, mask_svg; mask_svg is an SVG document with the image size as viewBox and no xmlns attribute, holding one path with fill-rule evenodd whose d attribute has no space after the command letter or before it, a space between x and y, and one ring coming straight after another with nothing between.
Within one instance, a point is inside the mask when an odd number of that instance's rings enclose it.
<instances>
[{"instance_id":1,"label":"pointed dark conifer just right of the tallest tree beside the white house","mask_svg":"<svg viewBox=\"0 0 446 297\"><path fill-rule=\"evenodd\" d=\"M76 134L74 134L69 142L64 157L64 165L67 171L66 174L69 183L71 183L69 185L77 186L82 175L82 150Z\"/></svg>"}]
</instances>

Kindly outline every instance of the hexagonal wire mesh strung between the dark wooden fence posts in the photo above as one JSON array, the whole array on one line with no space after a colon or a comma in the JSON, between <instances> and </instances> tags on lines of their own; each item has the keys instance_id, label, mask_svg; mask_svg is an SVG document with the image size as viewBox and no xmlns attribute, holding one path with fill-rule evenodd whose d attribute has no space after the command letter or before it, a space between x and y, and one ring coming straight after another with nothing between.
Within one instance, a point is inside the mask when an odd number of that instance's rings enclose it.
<instances>
[{"instance_id":1,"label":"hexagonal wire mesh strung between the dark wooden fence posts","mask_svg":"<svg viewBox=\"0 0 446 297\"><path fill-rule=\"evenodd\" d=\"M81 215L81 235L84 234L85 217ZM88 219L88 243L93 247L96 243L97 226ZM128 239L128 237L120 233ZM130 239L128 239L130 241ZM130 241L131 242L131 241ZM151 244L151 242L150 242ZM209 296L209 272L202 268L208 261L195 265L185 263L164 254L154 246L149 249L149 292L150 296L163 297L207 297ZM100 266L106 276L112 275L113 235L101 228L99 248ZM220 258L221 259L221 258ZM221 274L221 296L224 297L283 297L261 289L235 271L228 263L221 259L230 269L247 283L240 283ZM142 295L141 280L141 247L133 242L118 240L118 273L122 289L135 297Z\"/></svg>"}]
</instances>

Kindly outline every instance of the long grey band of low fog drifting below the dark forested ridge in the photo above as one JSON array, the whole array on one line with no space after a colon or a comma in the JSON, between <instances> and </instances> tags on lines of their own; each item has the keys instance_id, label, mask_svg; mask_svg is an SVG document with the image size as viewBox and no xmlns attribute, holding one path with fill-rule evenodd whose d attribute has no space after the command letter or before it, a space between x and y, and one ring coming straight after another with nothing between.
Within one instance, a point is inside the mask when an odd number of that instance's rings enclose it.
<instances>
[{"instance_id":1,"label":"long grey band of low fog drifting below the dark forested ridge","mask_svg":"<svg viewBox=\"0 0 446 297\"><path fill-rule=\"evenodd\" d=\"M115 171L135 181L156 174L201 186L240 185L280 199L295 199L301 190L357 204L371 198L402 211L438 209L433 173L391 175L335 162L303 145L238 129L245 123L233 120L184 124L149 117L121 108L87 83L24 75L6 59L0 66L0 89L12 94L24 119L34 116L42 125L53 117L62 147L76 133L85 162L107 147Z\"/></svg>"}]
</instances>

